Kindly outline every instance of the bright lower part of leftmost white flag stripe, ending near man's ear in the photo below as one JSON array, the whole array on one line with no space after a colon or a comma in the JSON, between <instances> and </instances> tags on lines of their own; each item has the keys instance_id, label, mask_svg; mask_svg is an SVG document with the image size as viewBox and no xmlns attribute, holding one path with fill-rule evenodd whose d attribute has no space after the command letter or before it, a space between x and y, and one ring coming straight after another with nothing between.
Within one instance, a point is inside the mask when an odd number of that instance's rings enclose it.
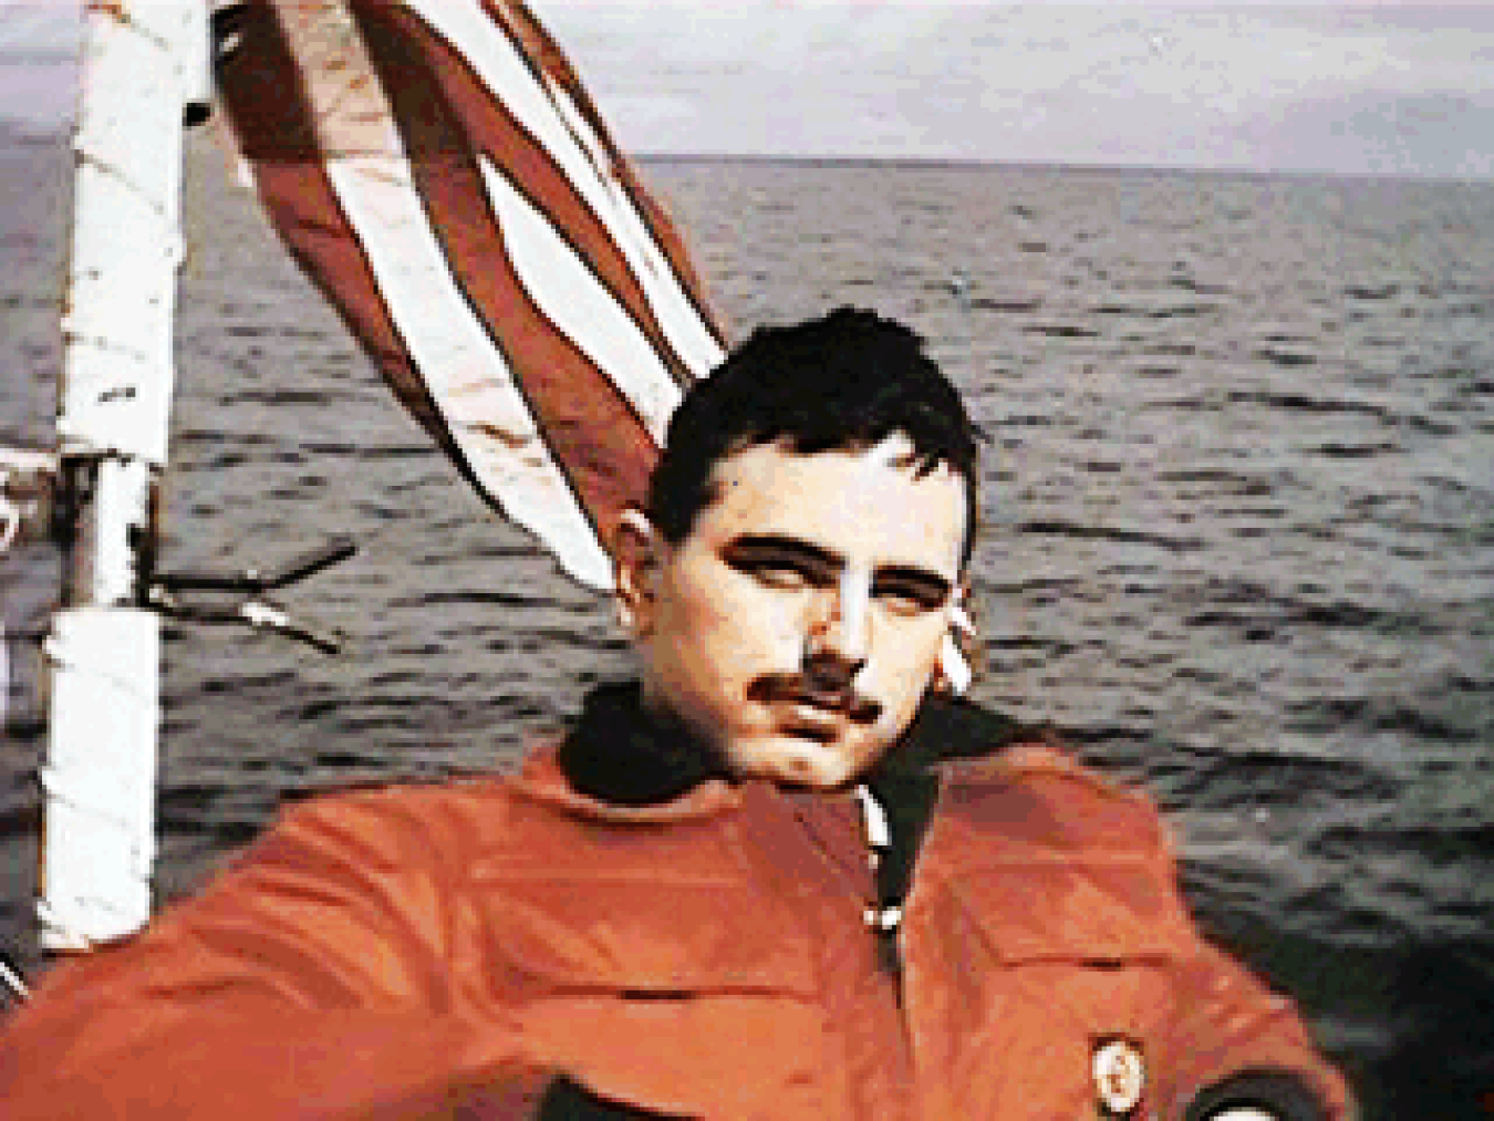
<instances>
[{"instance_id":1,"label":"bright lower part of leftmost white flag stripe, ending near man's ear","mask_svg":"<svg viewBox=\"0 0 1494 1121\"><path fill-rule=\"evenodd\" d=\"M394 326L474 474L493 489L508 517L550 546L566 572L610 589L611 560L539 438L508 365L463 299L408 166L387 157L342 158L329 161L327 175Z\"/></svg>"}]
</instances>

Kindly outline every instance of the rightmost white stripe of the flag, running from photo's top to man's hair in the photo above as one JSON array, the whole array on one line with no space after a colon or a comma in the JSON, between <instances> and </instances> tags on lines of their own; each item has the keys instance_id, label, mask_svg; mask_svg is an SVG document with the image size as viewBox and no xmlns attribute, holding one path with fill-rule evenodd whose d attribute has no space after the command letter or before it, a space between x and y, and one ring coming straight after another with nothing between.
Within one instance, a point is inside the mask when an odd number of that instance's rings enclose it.
<instances>
[{"instance_id":1,"label":"rightmost white stripe of the flag, running from photo's top to man's hair","mask_svg":"<svg viewBox=\"0 0 1494 1121\"><path fill-rule=\"evenodd\" d=\"M722 348L701 323L632 199L599 172L607 166L605 152L569 99L554 82L535 81L477 0L409 0L409 7L468 60L489 93L550 152L623 253L675 353L695 377L705 377L720 362ZM583 151L577 133L595 154Z\"/></svg>"}]
</instances>

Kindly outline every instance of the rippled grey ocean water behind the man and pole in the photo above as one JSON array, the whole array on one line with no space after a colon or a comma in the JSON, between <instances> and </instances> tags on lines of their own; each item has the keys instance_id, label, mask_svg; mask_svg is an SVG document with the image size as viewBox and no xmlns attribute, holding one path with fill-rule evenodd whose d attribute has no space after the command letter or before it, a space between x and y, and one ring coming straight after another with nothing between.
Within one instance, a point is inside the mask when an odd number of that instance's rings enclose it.
<instances>
[{"instance_id":1,"label":"rippled grey ocean water behind the man and pole","mask_svg":"<svg viewBox=\"0 0 1494 1121\"><path fill-rule=\"evenodd\" d=\"M69 158L0 136L0 442L51 442ZM1167 810L1200 921L1307 1010L1370 1118L1494 1090L1494 182L663 161L735 335L904 318L991 436L974 697ZM166 629L164 897L276 804L509 767L629 670L498 523L193 138L163 566L359 555L350 635ZM0 946L34 960L57 558L0 558Z\"/></svg>"}]
</instances>

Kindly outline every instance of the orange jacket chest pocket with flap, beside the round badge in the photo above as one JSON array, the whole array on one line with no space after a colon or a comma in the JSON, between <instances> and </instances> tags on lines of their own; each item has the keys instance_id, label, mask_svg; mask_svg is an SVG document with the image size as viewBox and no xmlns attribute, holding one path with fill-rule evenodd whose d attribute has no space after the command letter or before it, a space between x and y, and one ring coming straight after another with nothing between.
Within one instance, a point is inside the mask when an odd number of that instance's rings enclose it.
<instances>
[{"instance_id":1,"label":"orange jacket chest pocket with flap, beside the round badge","mask_svg":"<svg viewBox=\"0 0 1494 1121\"><path fill-rule=\"evenodd\" d=\"M1182 934L1155 862L991 864L947 892L950 1079L967 1100L989 1117L1095 1117L1095 1057L1115 1042L1156 1082Z\"/></svg>"}]
</instances>

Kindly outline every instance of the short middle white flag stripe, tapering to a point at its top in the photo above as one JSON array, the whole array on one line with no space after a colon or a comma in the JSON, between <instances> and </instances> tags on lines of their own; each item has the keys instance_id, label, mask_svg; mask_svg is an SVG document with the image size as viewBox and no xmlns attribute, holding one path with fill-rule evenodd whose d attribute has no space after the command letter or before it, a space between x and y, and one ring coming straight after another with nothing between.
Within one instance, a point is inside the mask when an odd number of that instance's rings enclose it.
<instances>
[{"instance_id":1,"label":"short middle white flag stripe, tapering to a point at its top","mask_svg":"<svg viewBox=\"0 0 1494 1121\"><path fill-rule=\"evenodd\" d=\"M539 311L605 371L627 398L654 444L663 445L681 392L657 351L586 262L544 214L518 193L500 167L480 157L487 196L503 230L508 259Z\"/></svg>"}]
</instances>

